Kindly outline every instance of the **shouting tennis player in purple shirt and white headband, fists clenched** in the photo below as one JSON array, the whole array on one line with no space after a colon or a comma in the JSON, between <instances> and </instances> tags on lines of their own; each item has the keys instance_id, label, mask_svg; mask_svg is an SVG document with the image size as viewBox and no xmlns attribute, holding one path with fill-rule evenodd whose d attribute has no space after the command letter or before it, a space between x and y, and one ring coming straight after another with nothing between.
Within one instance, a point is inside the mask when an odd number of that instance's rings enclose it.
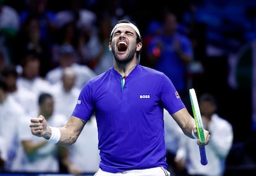
<instances>
[{"instance_id":1,"label":"shouting tennis player in purple shirt and white headband, fists clenched","mask_svg":"<svg viewBox=\"0 0 256 176\"><path fill-rule=\"evenodd\" d=\"M197 136L193 117L164 73L139 64L142 38L139 29L119 20L111 31L109 50L113 67L88 81L64 127L49 127L40 115L32 118L32 134L51 143L75 143L95 113L98 125L100 168L95 176L166 176L163 109L190 138ZM207 130L205 143L210 135ZM86 146L85 146L86 150ZM85 163L86 164L86 163Z\"/></svg>"}]
</instances>

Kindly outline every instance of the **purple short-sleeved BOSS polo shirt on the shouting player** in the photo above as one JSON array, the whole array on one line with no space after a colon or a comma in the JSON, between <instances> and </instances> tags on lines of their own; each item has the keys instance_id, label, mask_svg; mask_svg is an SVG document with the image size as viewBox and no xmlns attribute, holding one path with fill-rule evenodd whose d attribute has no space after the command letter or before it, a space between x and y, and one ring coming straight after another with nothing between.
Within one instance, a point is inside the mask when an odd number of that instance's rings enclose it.
<instances>
[{"instance_id":1,"label":"purple short-sleeved BOSS polo shirt on the shouting player","mask_svg":"<svg viewBox=\"0 0 256 176\"><path fill-rule=\"evenodd\" d=\"M136 65L124 86L113 67L87 82L72 115L89 120L95 112L100 168L116 173L167 169L163 108L173 114L184 107L166 75Z\"/></svg>"}]
</instances>

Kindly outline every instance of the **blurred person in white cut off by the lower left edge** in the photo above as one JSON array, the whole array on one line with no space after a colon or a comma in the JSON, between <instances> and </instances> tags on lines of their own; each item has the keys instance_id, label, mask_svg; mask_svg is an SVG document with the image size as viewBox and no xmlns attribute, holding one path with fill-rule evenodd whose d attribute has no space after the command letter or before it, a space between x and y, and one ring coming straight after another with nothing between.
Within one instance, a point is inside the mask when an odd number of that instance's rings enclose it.
<instances>
[{"instance_id":1,"label":"blurred person in white cut off by the lower left edge","mask_svg":"<svg viewBox=\"0 0 256 176\"><path fill-rule=\"evenodd\" d=\"M0 77L0 112L0 138L4 141L4 149L0 147L1 157L4 159L3 170L12 172L19 148L17 140L19 118L25 115L25 112L20 104L8 95L6 80L3 77Z\"/></svg>"}]
</instances>

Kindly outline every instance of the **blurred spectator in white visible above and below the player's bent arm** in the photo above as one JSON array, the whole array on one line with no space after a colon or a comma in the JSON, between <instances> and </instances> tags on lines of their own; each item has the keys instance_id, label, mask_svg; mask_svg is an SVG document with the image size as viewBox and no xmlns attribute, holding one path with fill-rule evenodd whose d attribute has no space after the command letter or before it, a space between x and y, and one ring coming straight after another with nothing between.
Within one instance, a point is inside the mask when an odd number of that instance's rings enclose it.
<instances>
[{"instance_id":1,"label":"blurred spectator in white visible above and below the player's bent arm","mask_svg":"<svg viewBox=\"0 0 256 176\"><path fill-rule=\"evenodd\" d=\"M66 67L63 70L61 82L54 85L52 92L56 113L65 115L66 120L72 114L80 94L80 90L74 86L75 78L75 70L72 67ZM70 174L94 173L99 168L98 131L94 116L88 122L88 127L81 132L76 143L70 146L67 162L75 166L69 168ZM87 149L84 149L85 144Z\"/></svg>"}]
</instances>

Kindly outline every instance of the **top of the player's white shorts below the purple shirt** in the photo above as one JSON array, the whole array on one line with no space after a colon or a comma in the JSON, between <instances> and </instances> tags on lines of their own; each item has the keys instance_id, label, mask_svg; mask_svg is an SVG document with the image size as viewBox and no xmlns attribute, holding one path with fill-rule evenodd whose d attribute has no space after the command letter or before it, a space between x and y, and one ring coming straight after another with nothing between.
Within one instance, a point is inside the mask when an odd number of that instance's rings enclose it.
<instances>
[{"instance_id":1,"label":"top of the player's white shorts below the purple shirt","mask_svg":"<svg viewBox=\"0 0 256 176\"><path fill-rule=\"evenodd\" d=\"M150 169L137 169L137 170L127 170L124 172L105 172L99 169L94 176L171 176L171 173L163 167L154 167Z\"/></svg>"}]
</instances>

